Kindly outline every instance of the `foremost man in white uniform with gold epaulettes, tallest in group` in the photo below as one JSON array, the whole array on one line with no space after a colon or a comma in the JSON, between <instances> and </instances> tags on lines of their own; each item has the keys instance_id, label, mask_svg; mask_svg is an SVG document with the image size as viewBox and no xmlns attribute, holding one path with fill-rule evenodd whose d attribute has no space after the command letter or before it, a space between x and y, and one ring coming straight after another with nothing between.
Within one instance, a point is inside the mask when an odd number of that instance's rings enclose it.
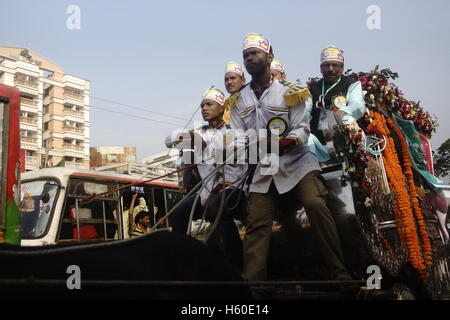
<instances>
[{"instance_id":1,"label":"foremost man in white uniform with gold epaulettes, tallest in group","mask_svg":"<svg viewBox=\"0 0 450 320\"><path fill-rule=\"evenodd\" d=\"M309 151L309 123L305 112L308 89L287 87L272 81L273 50L259 34L244 38L243 58L252 76L231 104L231 125L244 131L266 130L279 138L279 169L265 174L259 161L250 185L249 212L244 238L244 277L265 280L272 222L281 198L292 195L303 206L315 233L317 249L333 279L351 279L344 262L336 225L326 206L320 166ZM228 102L227 102L228 104ZM261 138L261 134L260 134Z\"/></svg>"}]
</instances>

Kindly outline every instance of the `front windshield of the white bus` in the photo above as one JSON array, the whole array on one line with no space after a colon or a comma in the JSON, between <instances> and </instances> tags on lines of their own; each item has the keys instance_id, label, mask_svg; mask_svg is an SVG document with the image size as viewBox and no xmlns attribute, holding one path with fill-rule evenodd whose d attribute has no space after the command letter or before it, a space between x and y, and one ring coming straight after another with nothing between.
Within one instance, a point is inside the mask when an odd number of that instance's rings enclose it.
<instances>
[{"instance_id":1,"label":"front windshield of the white bus","mask_svg":"<svg viewBox=\"0 0 450 320\"><path fill-rule=\"evenodd\" d=\"M22 238L39 238L44 234L53 205L56 204L58 187L58 184L51 180L22 183L19 206Z\"/></svg>"}]
</instances>

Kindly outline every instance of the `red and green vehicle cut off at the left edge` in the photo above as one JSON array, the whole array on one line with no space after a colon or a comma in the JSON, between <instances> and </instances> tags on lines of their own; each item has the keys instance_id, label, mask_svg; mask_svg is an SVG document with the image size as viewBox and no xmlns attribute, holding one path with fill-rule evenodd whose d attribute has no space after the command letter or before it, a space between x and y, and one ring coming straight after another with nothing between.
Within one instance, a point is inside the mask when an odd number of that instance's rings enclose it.
<instances>
[{"instance_id":1,"label":"red and green vehicle cut off at the left edge","mask_svg":"<svg viewBox=\"0 0 450 320\"><path fill-rule=\"evenodd\" d=\"M0 243L20 244L20 92L0 84Z\"/></svg>"}]
</instances>

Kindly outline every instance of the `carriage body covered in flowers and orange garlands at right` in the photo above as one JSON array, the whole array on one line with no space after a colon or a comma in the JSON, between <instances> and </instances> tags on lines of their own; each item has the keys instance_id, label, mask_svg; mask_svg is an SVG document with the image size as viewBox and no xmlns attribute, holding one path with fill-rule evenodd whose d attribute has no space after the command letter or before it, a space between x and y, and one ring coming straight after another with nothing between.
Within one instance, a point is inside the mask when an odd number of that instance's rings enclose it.
<instances>
[{"instance_id":1,"label":"carriage body covered in flowers and orange garlands at right","mask_svg":"<svg viewBox=\"0 0 450 320\"><path fill-rule=\"evenodd\" d=\"M429 139L436 119L389 82L398 77L389 69L347 75L361 82L367 114L342 123L324 109L331 160L321 165L335 175L324 174L328 187L343 214L354 214L383 273L408 279L416 295L439 298L450 290L450 186L434 176Z\"/></svg>"}]
</instances>

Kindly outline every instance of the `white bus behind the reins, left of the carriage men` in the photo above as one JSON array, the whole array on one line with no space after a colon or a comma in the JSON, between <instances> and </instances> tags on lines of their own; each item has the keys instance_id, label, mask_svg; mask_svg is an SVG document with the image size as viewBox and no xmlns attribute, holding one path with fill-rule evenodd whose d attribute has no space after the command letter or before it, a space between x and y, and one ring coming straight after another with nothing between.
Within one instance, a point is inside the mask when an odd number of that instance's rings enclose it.
<instances>
[{"instance_id":1,"label":"white bus behind the reins, left of the carriage men","mask_svg":"<svg viewBox=\"0 0 450 320\"><path fill-rule=\"evenodd\" d=\"M64 167L23 173L21 245L128 238L128 208L135 192L139 194L136 206L146 206L154 225L181 199L181 193L174 179L129 186L143 180L149 178ZM124 186L128 187L117 190ZM112 192L85 201L108 191ZM161 225L169 227L168 221Z\"/></svg>"}]
</instances>

